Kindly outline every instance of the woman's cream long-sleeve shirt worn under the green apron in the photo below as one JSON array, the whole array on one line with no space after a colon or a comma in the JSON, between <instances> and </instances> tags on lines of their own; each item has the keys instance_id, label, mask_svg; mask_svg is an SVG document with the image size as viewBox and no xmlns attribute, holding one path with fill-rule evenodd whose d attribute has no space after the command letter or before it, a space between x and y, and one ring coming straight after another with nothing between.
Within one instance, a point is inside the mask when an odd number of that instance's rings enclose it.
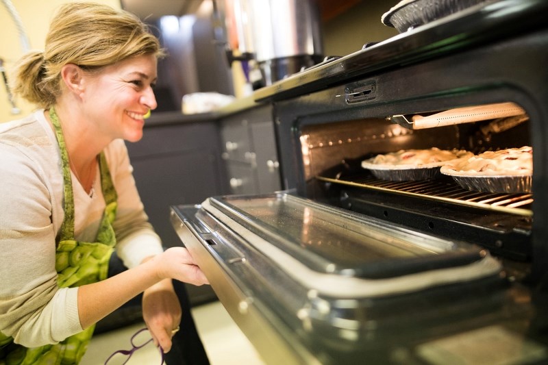
<instances>
[{"instance_id":1,"label":"woman's cream long-sleeve shirt worn under the green apron","mask_svg":"<svg viewBox=\"0 0 548 365\"><path fill-rule=\"evenodd\" d=\"M0 123L0 331L25 347L82 331L78 288L58 288L55 237L64 219L60 149L43 110ZM90 136L93 138L93 136ZM123 140L105 148L118 208L116 252L129 268L162 253ZM99 170L90 197L73 175L75 239L95 242L105 209Z\"/></svg>"}]
</instances>

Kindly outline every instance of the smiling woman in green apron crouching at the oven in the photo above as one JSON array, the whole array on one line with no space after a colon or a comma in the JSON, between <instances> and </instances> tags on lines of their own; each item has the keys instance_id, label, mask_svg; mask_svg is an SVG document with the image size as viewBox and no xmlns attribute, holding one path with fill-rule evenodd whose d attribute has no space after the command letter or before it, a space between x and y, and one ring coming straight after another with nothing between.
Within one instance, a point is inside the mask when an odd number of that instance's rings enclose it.
<instances>
[{"instance_id":1,"label":"smiling woman in green apron crouching at the oven","mask_svg":"<svg viewBox=\"0 0 548 365\"><path fill-rule=\"evenodd\" d=\"M132 14L68 3L45 51L18 65L15 92L41 109L0 124L0 363L77 364L95 323L141 292L145 323L167 353L182 318L171 279L208 283L186 249L162 250L123 142L140 140L156 108L161 56ZM115 244L129 269L108 277ZM180 325L199 347L186 347L198 352L189 361L207 363L193 323ZM186 363L177 354L166 362Z\"/></svg>"}]
</instances>

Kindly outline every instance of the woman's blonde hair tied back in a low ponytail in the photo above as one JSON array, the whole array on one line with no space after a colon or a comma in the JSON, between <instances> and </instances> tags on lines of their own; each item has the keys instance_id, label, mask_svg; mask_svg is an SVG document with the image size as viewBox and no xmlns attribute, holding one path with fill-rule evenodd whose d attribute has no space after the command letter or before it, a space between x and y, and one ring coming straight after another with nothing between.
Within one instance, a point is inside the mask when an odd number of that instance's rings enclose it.
<instances>
[{"instance_id":1,"label":"woman's blonde hair tied back in a low ponytail","mask_svg":"<svg viewBox=\"0 0 548 365\"><path fill-rule=\"evenodd\" d=\"M164 55L158 38L132 13L98 3L66 3L51 21L45 50L30 51L15 70L14 92L49 108L61 92L61 69L95 70L138 55Z\"/></svg>"}]
</instances>

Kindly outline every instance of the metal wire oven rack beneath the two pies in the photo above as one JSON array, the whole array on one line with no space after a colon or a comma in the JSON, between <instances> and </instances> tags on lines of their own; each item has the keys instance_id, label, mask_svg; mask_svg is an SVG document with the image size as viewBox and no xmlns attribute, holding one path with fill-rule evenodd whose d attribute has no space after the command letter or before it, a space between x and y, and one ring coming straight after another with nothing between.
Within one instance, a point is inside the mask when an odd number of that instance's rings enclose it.
<instances>
[{"instance_id":1,"label":"metal wire oven rack beneath the two pies","mask_svg":"<svg viewBox=\"0 0 548 365\"><path fill-rule=\"evenodd\" d=\"M452 180L387 181L370 175L336 178L316 176L316 179L333 184L404 194L421 199L478 207L520 216L533 216L532 193L475 192L461 188Z\"/></svg>"}]
</instances>

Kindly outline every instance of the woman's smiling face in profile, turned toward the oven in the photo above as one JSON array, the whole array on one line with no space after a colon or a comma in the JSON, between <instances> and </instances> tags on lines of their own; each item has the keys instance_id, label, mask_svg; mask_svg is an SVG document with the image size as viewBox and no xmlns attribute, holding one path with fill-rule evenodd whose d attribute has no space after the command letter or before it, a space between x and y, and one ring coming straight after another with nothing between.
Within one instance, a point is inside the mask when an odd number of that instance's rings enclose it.
<instances>
[{"instance_id":1,"label":"woman's smiling face in profile, turned toward the oven","mask_svg":"<svg viewBox=\"0 0 548 365\"><path fill-rule=\"evenodd\" d=\"M143 116L158 105L152 90L156 66L155 55L140 55L85 77L82 108L99 134L129 142L142 138Z\"/></svg>"}]
</instances>

